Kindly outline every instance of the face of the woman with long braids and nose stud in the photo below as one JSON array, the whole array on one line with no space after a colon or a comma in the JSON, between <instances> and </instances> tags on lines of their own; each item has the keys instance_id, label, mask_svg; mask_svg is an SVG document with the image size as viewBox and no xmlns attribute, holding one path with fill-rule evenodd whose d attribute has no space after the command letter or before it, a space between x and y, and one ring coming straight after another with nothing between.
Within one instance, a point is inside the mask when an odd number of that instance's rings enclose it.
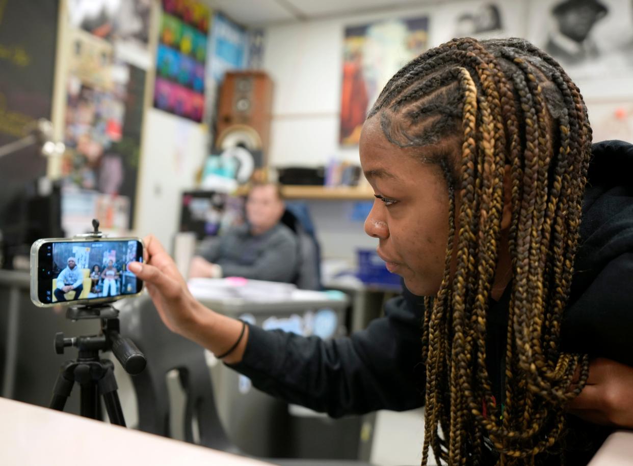
<instances>
[{"instance_id":1,"label":"face of the woman with long braids and nose stud","mask_svg":"<svg viewBox=\"0 0 633 466\"><path fill-rule=\"evenodd\" d=\"M379 239L377 252L387 269L404 278L414 294L437 293L448 242L449 192L439 165L419 157L460 150L461 141L422 148L399 148L387 141L380 116L365 122L360 161L376 198L365 232ZM441 152L440 152L441 151ZM418 157L418 158L417 158Z\"/></svg>"}]
</instances>

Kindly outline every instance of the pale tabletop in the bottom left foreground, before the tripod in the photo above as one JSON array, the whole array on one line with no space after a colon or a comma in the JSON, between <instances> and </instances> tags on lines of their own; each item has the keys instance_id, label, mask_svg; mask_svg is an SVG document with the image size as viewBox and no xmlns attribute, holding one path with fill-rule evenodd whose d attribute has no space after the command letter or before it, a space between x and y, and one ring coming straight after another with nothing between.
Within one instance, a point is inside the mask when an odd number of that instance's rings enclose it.
<instances>
[{"instance_id":1,"label":"pale tabletop in the bottom left foreground, before the tripod","mask_svg":"<svg viewBox=\"0 0 633 466\"><path fill-rule=\"evenodd\" d=\"M3 466L268 464L6 398L0 413Z\"/></svg>"}]
</instances>

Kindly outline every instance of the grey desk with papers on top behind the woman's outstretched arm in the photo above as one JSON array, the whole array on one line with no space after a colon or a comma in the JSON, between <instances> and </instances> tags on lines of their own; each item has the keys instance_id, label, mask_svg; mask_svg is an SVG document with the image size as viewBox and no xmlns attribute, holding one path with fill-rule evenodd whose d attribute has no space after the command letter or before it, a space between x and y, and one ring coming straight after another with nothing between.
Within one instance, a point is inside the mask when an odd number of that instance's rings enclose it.
<instances>
[{"instance_id":1,"label":"grey desk with papers on top behind the woman's outstretched arm","mask_svg":"<svg viewBox=\"0 0 633 466\"><path fill-rule=\"evenodd\" d=\"M235 283L235 288L231 284ZM294 285L248 280L189 280L196 299L220 314L241 318L266 330L280 328L300 335L332 338L344 335L343 293L298 290ZM252 286L251 290L246 287ZM251 381L216 364L211 379L223 426L234 443L257 457L361 458L368 460L371 437L359 441L363 422L370 417L330 419L255 390ZM296 415L301 412L301 415ZM367 429L367 427L365 427Z\"/></svg>"}]
</instances>

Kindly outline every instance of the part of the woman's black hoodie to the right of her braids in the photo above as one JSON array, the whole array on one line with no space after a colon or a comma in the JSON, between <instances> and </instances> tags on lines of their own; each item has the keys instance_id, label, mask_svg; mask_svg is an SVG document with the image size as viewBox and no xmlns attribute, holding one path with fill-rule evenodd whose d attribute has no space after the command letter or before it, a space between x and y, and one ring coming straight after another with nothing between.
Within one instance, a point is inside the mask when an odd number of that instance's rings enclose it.
<instances>
[{"instance_id":1,"label":"part of the woman's black hoodie to the right of her braids","mask_svg":"<svg viewBox=\"0 0 633 466\"><path fill-rule=\"evenodd\" d=\"M633 145L592 152L561 347L633 366Z\"/></svg>"}]
</instances>

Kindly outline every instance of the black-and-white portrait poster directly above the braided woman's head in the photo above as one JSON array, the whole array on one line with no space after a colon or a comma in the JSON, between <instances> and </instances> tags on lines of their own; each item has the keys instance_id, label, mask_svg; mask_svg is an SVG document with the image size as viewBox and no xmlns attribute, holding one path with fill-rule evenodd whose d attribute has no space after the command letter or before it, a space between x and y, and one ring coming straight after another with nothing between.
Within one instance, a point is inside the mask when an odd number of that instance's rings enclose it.
<instances>
[{"instance_id":1,"label":"black-and-white portrait poster directly above the braided woman's head","mask_svg":"<svg viewBox=\"0 0 633 466\"><path fill-rule=\"evenodd\" d=\"M432 38L441 44L454 37L494 39L524 37L527 2L515 0L469 0L438 8L432 21Z\"/></svg>"}]
</instances>

